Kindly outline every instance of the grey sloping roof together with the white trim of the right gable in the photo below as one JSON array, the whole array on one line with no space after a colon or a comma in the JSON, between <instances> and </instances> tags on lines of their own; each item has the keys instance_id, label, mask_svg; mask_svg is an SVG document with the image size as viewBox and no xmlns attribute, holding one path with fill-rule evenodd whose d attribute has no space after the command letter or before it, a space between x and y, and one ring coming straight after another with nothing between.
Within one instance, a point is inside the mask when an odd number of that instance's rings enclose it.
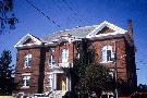
<instances>
[{"instance_id":1,"label":"grey sloping roof together with the white trim of the right gable","mask_svg":"<svg viewBox=\"0 0 147 98\"><path fill-rule=\"evenodd\" d=\"M109 28L115 30L113 33L109 33L109 34L98 34L97 33L99 30L101 30L105 26L108 26ZM71 35L72 37L75 38L105 38L106 36L117 36L117 35L123 35L125 34L127 30L118 27L107 21L103 21L102 23L100 23L99 25L93 25L93 26L84 26L84 27L75 27L72 29L65 29L65 30L59 30L53 34L47 35L42 38L40 38L41 41L44 42L52 42L59 39L60 36L63 35Z\"/></svg>"}]
</instances>

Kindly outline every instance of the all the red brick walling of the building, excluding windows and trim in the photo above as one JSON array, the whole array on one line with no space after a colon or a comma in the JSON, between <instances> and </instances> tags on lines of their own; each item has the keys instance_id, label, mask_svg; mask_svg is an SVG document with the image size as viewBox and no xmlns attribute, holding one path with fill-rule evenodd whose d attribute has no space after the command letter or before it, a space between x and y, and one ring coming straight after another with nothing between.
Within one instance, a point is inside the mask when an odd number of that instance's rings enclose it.
<instances>
[{"instance_id":1,"label":"all the red brick walling of the building, excluding windows and trim","mask_svg":"<svg viewBox=\"0 0 147 98\"><path fill-rule=\"evenodd\" d=\"M128 62L128 60L126 60L127 56L130 56L130 52L132 50L130 50L130 45L126 42L124 37L118 37L118 38L111 38L111 39L95 39L95 40L90 40L93 47L96 50L96 58L95 61L97 61L98 63L101 62L101 48L103 46L112 46L112 51L115 52L117 51L117 68L118 69L118 76L120 78L122 78L125 82L128 82L128 77L130 78L135 78L135 77L131 77L128 73L131 73L131 71L135 71L135 69L133 68L133 70L130 70L127 65L131 65ZM50 88L48 87L49 81L48 81L48 72L51 71L51 69L48 65L48 58L50 54L53 54L56 58L56 62L61 63L61 50L62 49L69 49L69 62L73 62L73 59L75 58L75 53L76 50L74 48L74 44L70 44L70 42L61 42L58 46L54 47L49 47L46 46L44 49L41 49L40 52L40 48L25 48L25 49L19 49L17 50L17 61L16 61L16 75L15 75L15 83L19 83L17 86L17 90L15 90L16 93L19 91L24 91L24 93L38 93L39 88L38 85L40 83L38 83L38 76L41 73L42 74L42 91L49 91ZM54 51L51 52L50 49L53 49ZM130 50L130 51L128 51ZM32 68L30 69L24 69L24 57L30 53L33 54L33 62L32 62ZM42 54L41 54L42 53ZM134 52L132 52L134 53ZM44 62L41 61L40 63L40 56L44 59ZM135 58L134 58L135 60ZM109 62L109 63L103 63L106 66L113 69L114 68L114 62ZM133 63L135 64L135 62ZM133 66L132 64L132 66ZM39 68L40 66L40 68ZM42 66L42 72L40 72L39 69L41 69ZM45 69L44 69L45 68ZM44 71L45 70L45 71ZM21 81L22 81L22 74L23 73L30 73L30 87L28 89L22 89L21 88ZM134 72L133 72L134 73ZM44 77L45 76L45 77Z\"/></svg>"}]
</instances>

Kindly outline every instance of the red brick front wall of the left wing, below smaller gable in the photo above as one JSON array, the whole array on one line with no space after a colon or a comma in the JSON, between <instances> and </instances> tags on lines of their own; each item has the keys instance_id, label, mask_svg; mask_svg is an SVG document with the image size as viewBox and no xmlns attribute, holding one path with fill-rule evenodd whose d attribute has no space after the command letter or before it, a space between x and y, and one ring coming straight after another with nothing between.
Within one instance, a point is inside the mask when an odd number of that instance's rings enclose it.
<instances>
[{"instance_id":1,"label":"red brick front wall of the left wing, below smaller gable","mask_svg":"<svg viewBox=\"0 0 147 98\"><path fill-rule=\"evenodd\" d=\"M32 58L32 66L24 68L24 57L30 53ZM16 74L15 74L15 83L19 83L16 90L14 93L37 93L38 91L38 75L39 75L39 56L40 49L39 48L30 48L30 49L19 49L17 50L17 58L16 58ZM29 88L25 89L22 88L22 74L30 73L30 86Z\"/></svg>"}]
</instances>

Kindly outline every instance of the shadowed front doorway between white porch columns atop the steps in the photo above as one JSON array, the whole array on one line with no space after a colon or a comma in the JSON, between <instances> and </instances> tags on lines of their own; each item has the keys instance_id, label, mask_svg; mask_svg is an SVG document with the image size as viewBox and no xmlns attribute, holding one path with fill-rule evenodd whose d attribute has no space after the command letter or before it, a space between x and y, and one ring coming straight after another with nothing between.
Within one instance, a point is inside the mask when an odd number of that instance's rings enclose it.
<instances>
[{"instance_id":1,"label":"shadowed front doorway between white porch columns atop the steps","mask_svg":"<svg viewBox=\"0 0 147 98\"><path fill-rule=\"evenodd\" d=\"M66 76L63 73L57 74L57 90L66 90Z\"/></svg>"}]
</instances>

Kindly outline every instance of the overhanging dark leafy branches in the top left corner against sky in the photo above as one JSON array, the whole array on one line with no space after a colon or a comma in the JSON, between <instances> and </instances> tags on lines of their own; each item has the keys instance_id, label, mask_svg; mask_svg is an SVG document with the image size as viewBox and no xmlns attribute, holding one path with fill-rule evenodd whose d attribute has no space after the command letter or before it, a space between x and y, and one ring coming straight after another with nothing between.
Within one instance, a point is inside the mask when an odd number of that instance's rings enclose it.
<instances>
[{"instance_id":1,"label":"overhanging dark leafy branches in the top left corner against sky","mask_svg":"<svg viewBox=\"0 0 147 98\"><path fill-rule=\"evenodd\" d=\"M13 5L13 0L0 0L0 34L8 28L14 29L19 22L14 13L11 14Z\"/></svg>"}]
</instances>

